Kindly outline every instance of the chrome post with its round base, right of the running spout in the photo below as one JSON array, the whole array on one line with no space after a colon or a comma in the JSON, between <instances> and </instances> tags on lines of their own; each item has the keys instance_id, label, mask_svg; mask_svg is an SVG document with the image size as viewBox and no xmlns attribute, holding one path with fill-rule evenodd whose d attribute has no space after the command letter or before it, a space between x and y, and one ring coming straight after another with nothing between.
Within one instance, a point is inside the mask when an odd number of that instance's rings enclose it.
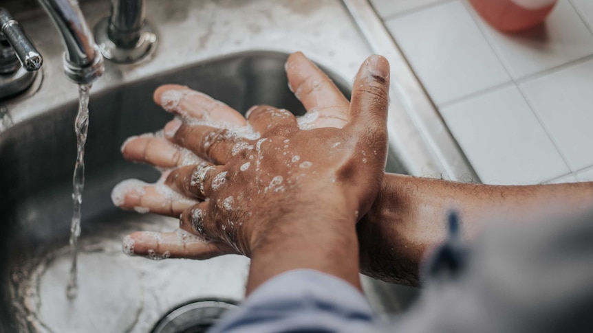
<instances>
[{"instance_id":1,"label":"chrome post with its round base, right of the running spout","mask_svg":"<svg viewBox=\"0 0 593 333\"><path fill-rule=\"evenodd\" d=\"M111 14L96 25L95 38L111 61L132 63L149 56L157 38L146 21L146 1L111 0Z\"/></svg>"}]
</instances>

